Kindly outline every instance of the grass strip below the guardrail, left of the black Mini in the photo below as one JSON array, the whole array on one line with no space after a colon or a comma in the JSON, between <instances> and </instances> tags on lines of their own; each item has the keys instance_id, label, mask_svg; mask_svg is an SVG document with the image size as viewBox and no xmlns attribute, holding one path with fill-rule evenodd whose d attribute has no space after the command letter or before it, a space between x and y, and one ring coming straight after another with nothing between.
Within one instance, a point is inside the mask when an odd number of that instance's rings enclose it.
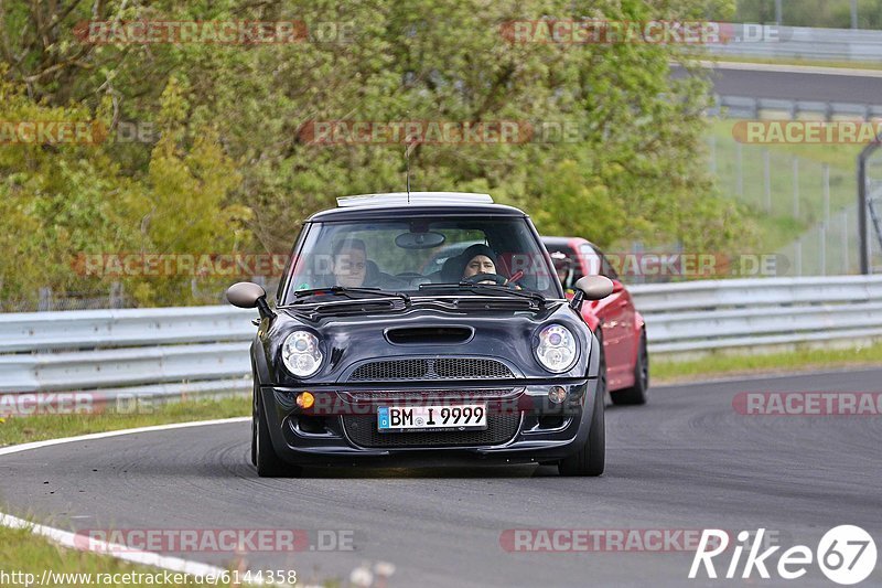
<instances>
[{"instance_id":1,"label":"grass strip below the guardrail, left of the black Mini","mask_svg":"<svg viewBox=\"0 0 882 588\"><path fill-rule=\"evenodd\" d=\"M169 423L241 417L251 414L250 397L196 399L173 404L141 406L131 414L34 415L0 419L0 447L43 439L73 437Z\"/></svg>"}]
</instances>

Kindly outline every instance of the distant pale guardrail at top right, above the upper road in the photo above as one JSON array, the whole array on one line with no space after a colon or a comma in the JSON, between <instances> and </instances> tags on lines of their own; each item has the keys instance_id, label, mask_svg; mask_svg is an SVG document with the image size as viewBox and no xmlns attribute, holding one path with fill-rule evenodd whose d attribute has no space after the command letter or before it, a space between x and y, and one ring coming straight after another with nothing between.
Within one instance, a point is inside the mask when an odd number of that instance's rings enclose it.
<instances>
[{"instance_id":1,"label":"distant pale guardrail at top right, above the upper road","mask_svg":"<svg viewBox=\"0 0 882 588\"><path fill-rule=\"evenodd\" d=\"M736 39L708 45L710 53L729 57L830 62L879 62L882 31L809 26L734 25Z\"/></svg>"}]
</instances>

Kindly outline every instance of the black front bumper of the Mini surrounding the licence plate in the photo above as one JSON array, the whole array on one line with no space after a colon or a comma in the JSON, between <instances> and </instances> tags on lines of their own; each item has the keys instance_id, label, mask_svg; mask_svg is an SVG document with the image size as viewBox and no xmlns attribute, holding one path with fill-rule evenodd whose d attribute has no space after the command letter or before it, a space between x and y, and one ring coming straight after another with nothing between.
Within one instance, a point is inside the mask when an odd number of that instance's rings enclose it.
<instances>
[{"instance_id":1,"label":"black front bumper of the Mini surrounding the licence plate","mask_svg":"<svg viewBox=\"0 0 882 588\"><path fill-rule=\"evenodd\" d=\"M279 457L294 464L445 466L530 463L562 459L588 438L596 379L534 382L486 388L475 385L389 389L359 386L343 389L261 386L260 394ZM548 399L551 386L563 386L567 400ZM315 405L298 408L295 398L311 392ZM482 402L487 431L378 434L379 406Z\"/></svg>"}]
</instances>

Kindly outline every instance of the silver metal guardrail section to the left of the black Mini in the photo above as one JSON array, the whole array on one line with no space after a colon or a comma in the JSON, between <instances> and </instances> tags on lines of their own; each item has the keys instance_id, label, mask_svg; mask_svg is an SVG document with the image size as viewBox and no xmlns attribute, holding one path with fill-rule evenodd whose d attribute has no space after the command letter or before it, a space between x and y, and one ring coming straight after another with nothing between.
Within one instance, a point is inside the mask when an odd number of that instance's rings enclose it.
<instances>
[{"instance_id":1,"label":"silver metal guardrail section to the left of the black Mini","mask_svg":"<svg viewBox=\"0 0 882 588\"><path fill-rule=\"evenodd\" d=\"M0 314L0 394L246 391L256 317L230 306Z\"/></svg>"}]
</instances>

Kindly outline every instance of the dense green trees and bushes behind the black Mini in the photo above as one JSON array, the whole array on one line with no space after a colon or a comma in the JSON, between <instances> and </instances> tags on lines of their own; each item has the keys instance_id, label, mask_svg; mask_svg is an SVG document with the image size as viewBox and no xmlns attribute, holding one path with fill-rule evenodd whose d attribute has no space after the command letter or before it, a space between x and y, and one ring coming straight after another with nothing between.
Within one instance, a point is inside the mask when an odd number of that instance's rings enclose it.
<instances>
[{"instance_id":1,"label":"dense green trees and bushes behind the black Mini","mask_svg":"<svg viewBox=\"0 0 882 588\"><path fill-rule=\"evenodd\" d=\"M66 4L65 4L66 7ZM315 120L564 124L568 141L421 145L415 190L486 191L540 232L602 246L723 248L742 233L702 162L707 82L674 81L700 52L657 44L512 43L504 23L701 19L731 2L233 0L0 8L3 120L98 120L98 145L0 145L0 300L122 281L142 304L218 301L224 277L76 275L78 254L290 249L334 197L405 186L404 146L316 146ZM86 44L97 19L304 21L300 43ZM53 23L40 26L37 23ZM329 26L331 29L329 29ZM337 28L345 38L319 30ZM8 98L7 98L8 97ZM18 118L15 118L18 117ZM30 118L29 118L30 117ZM118 140L152 125L147 142ZM75 265L75 261L73 261Z\"/></svg>"}]
</instances>

